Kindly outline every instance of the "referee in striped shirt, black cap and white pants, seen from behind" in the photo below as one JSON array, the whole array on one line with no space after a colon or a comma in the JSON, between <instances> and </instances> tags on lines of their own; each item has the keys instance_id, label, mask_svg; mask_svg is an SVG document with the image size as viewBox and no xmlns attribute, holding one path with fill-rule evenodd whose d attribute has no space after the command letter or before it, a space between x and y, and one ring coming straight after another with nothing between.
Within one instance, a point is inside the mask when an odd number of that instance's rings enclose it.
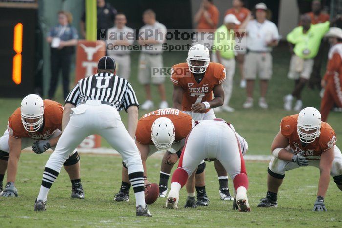
<instances>
[{"instance_id":1,"label":"referee in striped shirt, black cap and white pants, seen from behind","mask_svg":"<svg viewBox=\"0 0 342 228\"><path fill-rule=\"evenodd\" d=\"M114 59L102 57L97 74L78 81L65 103L62 135L46 163L34 210L46 210L47 194L73 148L85 137L98 134L121 154L127 164L129 181L135 193L136 215L151 217L145 204L144 169L132 138L138 120L139 104L128 81L115 75ZM123 108L128 112L130 134L119 115Z\"/></svg>"}]
</instances>

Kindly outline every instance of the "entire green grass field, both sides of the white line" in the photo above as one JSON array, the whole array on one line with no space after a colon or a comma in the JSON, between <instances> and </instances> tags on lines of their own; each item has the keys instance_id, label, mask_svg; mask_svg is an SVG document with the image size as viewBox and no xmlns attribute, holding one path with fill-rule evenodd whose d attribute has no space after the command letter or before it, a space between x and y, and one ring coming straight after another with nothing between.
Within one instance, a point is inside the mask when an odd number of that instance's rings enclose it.
<instances>
[{"instance_id":1,"label":"entire green grass field, both sides of the white line","mask_svg":"<svg viewBox=\"0 0 342 228\"><path fill-rule=\"evenodd\" d=\"M164 65L184 62L185 52L165 53ZM144 102L144 91L137 82L138 53L132 53L131 83L139 102ZM262 110L257 106L259 97L258 84L255 87L255 107L244 110L245 91L238 87L239 74L235 73L231 106L234 113L219 113L218 117L232 122L249 143L250 155L269 155L273 137L279 130L282 117L295 112L282 109L282 97L293 89L293 82L287 79L290 60L287 47L275 49L273 53L274 74L270 81L268 102L270 108ZM322 71L325 70L325 67ZM171 105L172 84L166 80L168 102ZM305 89L303 102L305 106L319 108L319 91ZM63 103L59 88L56 100ZM159 104L156 88L153 88L155 105ZM21 99L0 99L0 129L5 131L7 119ZM155 107L157 109L157 107ZM145 114L139 111L139 116ZM121 112L123 122L127 115ZM331 113L328 122L337 134L337 145L342 146L342 114ZM102 145L108 147L107 142ZM121 183L121 159L116 156L83 155L81 159L82 182L85 188L85 200L71 200L70 183L65 171L52 187L48 198L46 213L34 213L33 203L38 194L43 168L48 154L35 155L23 153L19 165L16 185L20 197L15 199L0 198L1 227L342 227L341 192L331 181L326 196L328 213L313 213L311 209L315 201L319 171L315 168L302 168L286 175L286 180L279 192L278 208L273 210L256 208L258 200L266 193L267 162L247 162L249 174L249 202L252 212L238 213L231 210L231 202L222 202L218 197L217 175L212 164L207 165L206 186L211 203L209 207L197 209L179 209L177 211L163 209L164 200L159 199L150 206L153 218L136 218L134 197L130 203L114 203L113 195ZM158 182L160 159L148 160L149 179ZM232 187L232 182L229 182ZM132 191L131 191L132 193ZM180 205L185 202L185 190L181 191Z\"/></svg>"}]
</instances>

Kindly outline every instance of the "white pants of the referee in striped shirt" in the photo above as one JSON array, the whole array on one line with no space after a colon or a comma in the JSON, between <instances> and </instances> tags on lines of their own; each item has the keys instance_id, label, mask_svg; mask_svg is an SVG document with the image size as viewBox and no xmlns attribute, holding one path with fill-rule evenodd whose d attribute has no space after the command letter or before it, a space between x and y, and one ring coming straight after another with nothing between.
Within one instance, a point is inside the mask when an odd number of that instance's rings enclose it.
<instances>
[{"instance_id":1,"label":"white pants of the referee in striped shirt","mask_svg":"<svg viewBox=\"0 0 342 228\"><path fill-rule=\"evenodd\" d=\"M72 109L70 121L62 133L46 167L57 172L85 137L98 134L115 148L126 163L128 173L144 172L140 153L128 134L118 111L99 101L88 101Z\"/></svg>"}]
</instances>

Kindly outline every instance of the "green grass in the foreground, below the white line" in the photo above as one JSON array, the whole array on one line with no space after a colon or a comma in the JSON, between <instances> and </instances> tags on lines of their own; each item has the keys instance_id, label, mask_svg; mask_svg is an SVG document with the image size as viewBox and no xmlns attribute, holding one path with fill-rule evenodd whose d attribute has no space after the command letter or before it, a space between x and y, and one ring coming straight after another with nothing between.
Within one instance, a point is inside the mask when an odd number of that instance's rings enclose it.
<instances>
[{"instance_id":1,"label":"green grass in the foreground, below the white line","mask_svg":"<svg viewBox=\"0 0 342 228\"><path fill-rule=\"evenodd\" d=\"M327 213L311 212L316 199L318 170L312 167L288 172L278 193L278 208L257 208L266 194L266 162L247 162L251 213L232 211L232 202L218 196L214 165L208 163L206 186L211 200L208 207L182 208L186 191L181 190L178 210L165 209L165 198L150 205L152 218L135 217L134 194L129 203L114 202L119 190L121 159L117 156L83 155L82 182L85 199L70 199L71 183L62 169L47 201L47 211L33 211L48 154L23 153L17 188L20 197L0 198L1 227L341 227L341 192L331 181L326 196ZM160 159L148 160L151 182L159 181ZM229 182L232 187L232 182Z\"/></svg>"}]
</instances>

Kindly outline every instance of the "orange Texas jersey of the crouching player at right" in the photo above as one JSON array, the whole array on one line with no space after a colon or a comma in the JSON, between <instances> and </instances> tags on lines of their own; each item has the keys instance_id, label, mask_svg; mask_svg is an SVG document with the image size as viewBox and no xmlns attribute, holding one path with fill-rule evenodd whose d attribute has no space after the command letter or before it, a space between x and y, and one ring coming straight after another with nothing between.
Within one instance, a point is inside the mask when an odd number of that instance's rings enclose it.
<instances>
[{"instance_id":1,"label":"orange Texas jersey of the crouching player at right","mask_svg":"<svg viewBox=\"0 0 342 228\"><path fill-rule=\"evenodd\" d=\"M290 147L296 154L301 153L308 160L320 159L321 153L332 148L336 143L334 130L328 123L322 122L320 136L314 142L305 145L297 134L297 118L298 114L283 118L280 123L281 134L289 140Z\"/></svg>"}]
</instances>

